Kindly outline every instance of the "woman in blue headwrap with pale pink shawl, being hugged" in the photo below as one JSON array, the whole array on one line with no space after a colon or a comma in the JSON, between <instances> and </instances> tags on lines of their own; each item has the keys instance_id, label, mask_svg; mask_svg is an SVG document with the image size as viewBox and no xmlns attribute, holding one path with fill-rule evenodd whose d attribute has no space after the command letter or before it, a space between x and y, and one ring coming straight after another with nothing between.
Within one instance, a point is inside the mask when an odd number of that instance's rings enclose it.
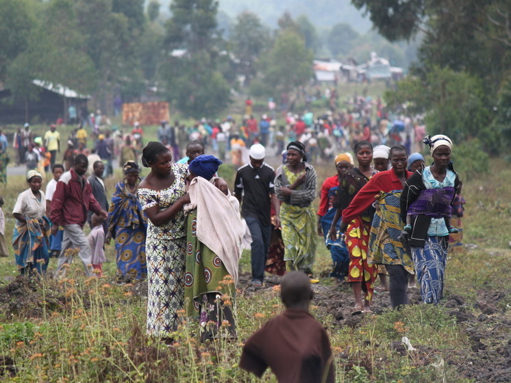
<instances>
[{"instance_id":1,"label":"woman in blue headwrap with pale pink shawl, being hugged","mask_svg":"<svg viewBox=\"0 0 511 383\"><path fill-rule=\"evenodd\" d=\"M208 182L221 163L214 156L198 156L188 168L184 297L187 317L199 319L201 341L237 337L232 308L245 227L238 199Z\"/></svg>"}]
</instances>

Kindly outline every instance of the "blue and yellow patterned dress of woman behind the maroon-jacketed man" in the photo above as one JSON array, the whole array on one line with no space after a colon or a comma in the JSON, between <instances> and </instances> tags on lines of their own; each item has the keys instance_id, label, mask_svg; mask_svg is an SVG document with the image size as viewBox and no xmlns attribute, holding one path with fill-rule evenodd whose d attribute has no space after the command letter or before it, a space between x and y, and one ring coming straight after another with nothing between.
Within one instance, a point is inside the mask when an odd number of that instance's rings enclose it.
<instances>
[{"instance_id":1,"label":"blue and yellow patterned dress of woman behind the maroon-jacketed man","mask_svg":"<svg viewBox=\"0 0 511 383\"><path fill-rule=\"evenodd\" d=\"M147 277L145 235L147 219L136 192L118 182L108 210L108 231L115 240L117 272L136 280Z\"/></svg>"}]
</instances>

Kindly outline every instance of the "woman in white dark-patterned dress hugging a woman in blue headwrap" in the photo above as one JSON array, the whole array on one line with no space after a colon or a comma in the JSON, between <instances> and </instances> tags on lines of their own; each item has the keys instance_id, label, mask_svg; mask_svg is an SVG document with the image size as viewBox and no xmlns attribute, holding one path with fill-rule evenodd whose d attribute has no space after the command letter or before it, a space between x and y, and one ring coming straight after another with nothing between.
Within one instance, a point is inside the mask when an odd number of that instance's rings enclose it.
<instances>
[{"instance_id":1,"label":"woman in white dark-patterned dress hugging a woman in blue headwrap","mask_svg":"<svg viewBox=\"0 0 511 383\"><path fill-rule=\"evenodd\" d=\"M151 173L138 185L138 199L149 222L146 236L148 280L147 334L172 341L184 308L187 164L173 164L169 149L151 141L142 150L142 164ZM219 185L222 191L227 184Z\"/></svg>"}]
</instances>

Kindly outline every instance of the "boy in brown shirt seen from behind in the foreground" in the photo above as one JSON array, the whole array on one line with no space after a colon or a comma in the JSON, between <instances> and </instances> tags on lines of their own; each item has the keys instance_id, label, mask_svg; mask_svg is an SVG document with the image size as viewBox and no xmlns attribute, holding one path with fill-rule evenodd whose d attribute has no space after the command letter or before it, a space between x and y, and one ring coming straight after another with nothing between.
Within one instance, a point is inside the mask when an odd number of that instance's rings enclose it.
<instances>
[{"instance_id":1,"label":"boy in brown shirt seen from behind in the foreground","mask_svg":"<svg viewBox=\"0 0 511 383\"><path fill-rule=\"evenodd\" d=\"M245 343L240 367L261 377L270 367L279 383L333 383L334 356L327 333L309 313L314 295L306 274L287 273L280 284L286 310Z\"/></svg>"}]
</instances>

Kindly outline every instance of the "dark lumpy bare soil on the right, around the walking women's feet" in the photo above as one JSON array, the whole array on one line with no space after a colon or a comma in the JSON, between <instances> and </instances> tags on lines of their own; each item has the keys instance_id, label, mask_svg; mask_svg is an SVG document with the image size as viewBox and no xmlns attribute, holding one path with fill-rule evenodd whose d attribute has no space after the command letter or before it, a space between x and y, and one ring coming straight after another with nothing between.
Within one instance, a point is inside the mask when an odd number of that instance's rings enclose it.
<instances>
[{"instance_id":1,"label":"dark lumpy bare soil on the right, around the walking women's feet","mask_svg":"<svg viewBox=\"0 0 511 383\"><path fill-rule=\"evenodd\" d=\"M255 294L258 291L269 290L279 284L281 277L270 275L266 277L264 286L251 286L251 277L248 273L240 275L239 285L243 294ZM353 293L349 284L324 286L313 284L313 304L320 307L334 318L334 327L349 326L356 328L362 322L364 315L352 315ZM459 375L475 380L475 382L511 382L511 314L499 305L499 302L511 294L511 291L479 291L475 302L469 301L463 295L449 295L442 301L442 305L449 309L449 315L454 317L469 338L469 349L438 350L427 345L413 345L415 351L410 353L406 345L401 342L392 342L388 347L403 357L413 358L416 365L428 365L437 356L442 356L445 363L453 366ZM421 291L419 288L408 289L410 304L421 304ZM377 292L373 298L371 310L373 314L381 314L390 308L388 292ZM369 340L368 340L369 342ZM379 345L384 347L384 345ZM371 366L365 363L364 355L350 353L349 349L341 354L345 358L347 368L352 365L362 365L371 372ZM384 363L385 361L379 361Z\"/></svg>"}]
</instances>

